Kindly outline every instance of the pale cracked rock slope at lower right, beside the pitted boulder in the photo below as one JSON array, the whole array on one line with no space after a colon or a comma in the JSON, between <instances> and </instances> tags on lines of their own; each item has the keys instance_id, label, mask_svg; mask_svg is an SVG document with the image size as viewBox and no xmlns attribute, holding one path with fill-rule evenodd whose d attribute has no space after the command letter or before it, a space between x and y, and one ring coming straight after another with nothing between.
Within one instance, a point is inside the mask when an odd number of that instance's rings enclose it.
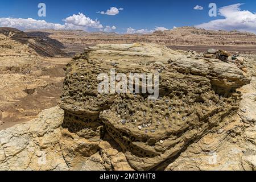
<instances>
[{"instance_id":1,"label":"pale cracked rock slope at lower right, beside the pitted boulder","mask_svg":"<svg viewBox=\"0 0 256 182\"><path fill-rule=\"evenodd\" d=\"M158 169L253 170L256 169L256 78L243 86L237 121L191 144L174 160Z\"/></svg>"}]
</instances>

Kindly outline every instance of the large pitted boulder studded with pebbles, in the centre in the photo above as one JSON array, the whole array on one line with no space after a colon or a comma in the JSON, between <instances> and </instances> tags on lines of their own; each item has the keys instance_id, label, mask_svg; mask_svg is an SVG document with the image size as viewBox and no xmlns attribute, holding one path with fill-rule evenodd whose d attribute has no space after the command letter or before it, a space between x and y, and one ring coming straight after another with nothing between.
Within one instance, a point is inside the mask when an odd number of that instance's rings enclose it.
<instances>
[{"instance_id":1,"label":"large pitted boulder studded with pebbles, in the centre","mask_svg":"<svg viewBox=\"0 0 256 182\"><path fill-rule=\"evenodd\" d=\"M100 73L159 72L159 97L99 94ZM236 64L187 57L155 44L108 44L85 49L65 68L62 126L96 141L109 135L130 166L157 167L209 132L236 121L250 78Z\"/></svg>"}]
</instances>

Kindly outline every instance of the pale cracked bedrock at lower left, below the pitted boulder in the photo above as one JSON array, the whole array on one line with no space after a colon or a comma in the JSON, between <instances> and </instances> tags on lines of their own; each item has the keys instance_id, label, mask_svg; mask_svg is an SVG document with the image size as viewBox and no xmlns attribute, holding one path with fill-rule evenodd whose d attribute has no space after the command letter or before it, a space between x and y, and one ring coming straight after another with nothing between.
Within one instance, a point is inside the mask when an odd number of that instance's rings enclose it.
<instances>
[{"instance_id":1,"label":"pale cracked bedrock at lower left, below the pitted boulder","mask_svg":"<svg viewBox=\"0 0 256 182\"><path fill-rule=\"evenodd\" d=\"M133 170L108 136L81 138L61 127L63 118L63 110L52 107L0 131L0 171Z\"/></svg>"}]
</instances>

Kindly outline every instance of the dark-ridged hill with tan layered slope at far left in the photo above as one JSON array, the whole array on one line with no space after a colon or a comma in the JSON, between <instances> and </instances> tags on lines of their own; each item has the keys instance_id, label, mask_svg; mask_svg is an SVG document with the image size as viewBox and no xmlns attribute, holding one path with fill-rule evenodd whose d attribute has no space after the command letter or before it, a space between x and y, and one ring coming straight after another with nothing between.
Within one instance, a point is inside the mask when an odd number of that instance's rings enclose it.
<instances>
[{"instance_id":1,"label":"dark-ridged hill with tan layered slope at far left","mask_svg":"<svg viewBox=\"0 0 256 182\"><path fill-rule=\"evenodd\" d=\"M0 73L28 74L46 57L67 56L46 40L15 28L0 27Z\"/></svg>"}]
</instances>

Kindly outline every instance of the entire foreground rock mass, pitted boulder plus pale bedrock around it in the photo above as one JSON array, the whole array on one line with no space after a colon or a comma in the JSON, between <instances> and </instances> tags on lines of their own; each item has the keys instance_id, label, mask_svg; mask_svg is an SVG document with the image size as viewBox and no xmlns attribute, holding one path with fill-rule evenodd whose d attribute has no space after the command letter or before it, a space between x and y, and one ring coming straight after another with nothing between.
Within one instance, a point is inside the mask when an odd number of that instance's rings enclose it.
<instances>
[{"instance_id":1,"label":"entire foreground rock mass, pitted boulder plus pale bedrock around it","mask_svg":"<svg viewBox=\"0 0 256 182\"><path fill-rule=\"evenodd\" d=\"M159 98L99 94L111 68L157 70ZM64 111L0 131L0 169L255 169L253 69L137 43L89 47L65 72Z\"/></svg>"}]
</instances>

